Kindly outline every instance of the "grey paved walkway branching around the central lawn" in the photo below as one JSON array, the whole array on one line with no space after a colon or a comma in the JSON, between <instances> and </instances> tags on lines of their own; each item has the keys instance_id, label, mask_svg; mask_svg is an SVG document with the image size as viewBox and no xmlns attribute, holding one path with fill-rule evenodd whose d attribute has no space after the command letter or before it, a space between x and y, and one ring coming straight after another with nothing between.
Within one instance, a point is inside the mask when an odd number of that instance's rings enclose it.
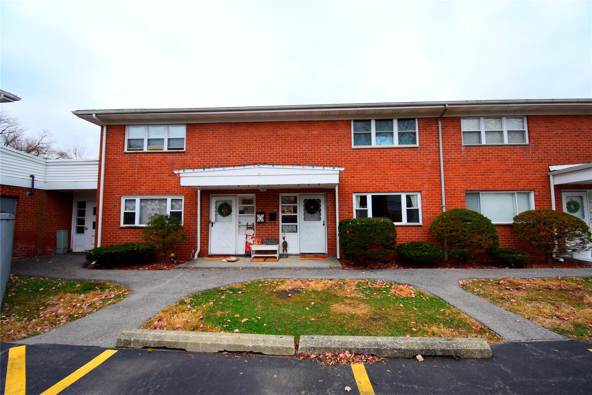
<instances>
[{"instance_id":1,"label":"grey paved walkway branching around the central lawn","mask_svg":"<svg viewBox=\"0 0 592 395\"><path fill-rule=\"evenodd\" d=\"M459 280L500 277L592 276L592 268L565 269L181 269L168 271L126 271L85 269L83 255L49 255L15 262L18 275L65 280L105 280L122 284L131 295L117 304L20 343L60 343L114 346L125 329L141 326L160 310L180 298L237 282L263 278L337 278L383 280L410 284L442 298L457 309L496 332L507 341L565 339L530 320L510 313L463 291ZM519 319L520 322L516 322Z\"/></svg>"}]
</instances>

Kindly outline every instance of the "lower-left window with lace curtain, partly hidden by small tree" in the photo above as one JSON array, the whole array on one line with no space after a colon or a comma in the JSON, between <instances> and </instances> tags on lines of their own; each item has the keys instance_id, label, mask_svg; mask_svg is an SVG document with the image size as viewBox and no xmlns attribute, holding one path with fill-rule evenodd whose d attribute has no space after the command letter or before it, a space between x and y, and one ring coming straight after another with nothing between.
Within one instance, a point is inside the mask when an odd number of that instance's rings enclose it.
<instances>
[{"instance_id":1,"label":"lower-left window with lace curtain, partly hidden by small tree","mask_svg":"<svg viewBox=\"0 0 592 395\"><path fill-rule=\"evenodd\" d=\"M183 197L121 198L121 226L146 226L154 216L169 214L183 221Z\"/></svg>"}]
</instances>

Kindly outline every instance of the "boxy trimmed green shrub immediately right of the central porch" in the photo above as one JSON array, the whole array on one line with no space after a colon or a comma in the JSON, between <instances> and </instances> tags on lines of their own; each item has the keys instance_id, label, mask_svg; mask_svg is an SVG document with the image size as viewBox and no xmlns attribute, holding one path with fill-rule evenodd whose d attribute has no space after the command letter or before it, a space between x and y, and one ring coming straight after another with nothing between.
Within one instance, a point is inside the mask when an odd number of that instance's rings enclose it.
<instances>
[{"instance_id":1,"label":"boxy trimmed green shrub immediately right of the central porch","mask_svg":"<svg viewBox=\"0 0 592 395\"><path fill-rule=\"evenodd\" d=\"M354 218L339 221L339 245L348 259L378 261L395 251L397 229L391 220Z\"/></svg>"}]
</instances>

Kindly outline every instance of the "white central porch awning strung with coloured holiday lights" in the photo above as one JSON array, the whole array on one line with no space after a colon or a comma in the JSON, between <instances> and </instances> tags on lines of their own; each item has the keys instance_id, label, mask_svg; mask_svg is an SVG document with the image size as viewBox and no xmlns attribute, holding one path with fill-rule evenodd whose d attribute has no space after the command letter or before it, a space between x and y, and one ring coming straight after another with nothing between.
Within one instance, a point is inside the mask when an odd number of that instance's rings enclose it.
<instances>
[{"instance_id":1,"label":"white central porch awning strung with coloured holiday lights","mask_svg":"<svg viewBox=\"0 0 592 395\"><path fill-rule=\"evenodd\" d=\"M335 188L340 166L236 165L175 170L181 186L195 189Z\"/></svg>"}]
</instances>

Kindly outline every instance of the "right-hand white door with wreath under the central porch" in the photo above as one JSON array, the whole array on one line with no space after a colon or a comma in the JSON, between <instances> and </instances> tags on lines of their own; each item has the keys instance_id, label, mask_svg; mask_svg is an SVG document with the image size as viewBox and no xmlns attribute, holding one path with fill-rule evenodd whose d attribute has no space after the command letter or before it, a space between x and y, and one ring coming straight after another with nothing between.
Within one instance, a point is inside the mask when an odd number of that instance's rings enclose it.
<instances>
[{"instance_id":1,"label":"right-hand white door with wreath under the central porch","mask_svg":"<svg viewBox=\"0 0 592 395\"><path fill-rule=\"evenodd\" d=\"M300 195L300 252L326 253L326 217L324 195Z\"/></svg>"}]
</instances>

